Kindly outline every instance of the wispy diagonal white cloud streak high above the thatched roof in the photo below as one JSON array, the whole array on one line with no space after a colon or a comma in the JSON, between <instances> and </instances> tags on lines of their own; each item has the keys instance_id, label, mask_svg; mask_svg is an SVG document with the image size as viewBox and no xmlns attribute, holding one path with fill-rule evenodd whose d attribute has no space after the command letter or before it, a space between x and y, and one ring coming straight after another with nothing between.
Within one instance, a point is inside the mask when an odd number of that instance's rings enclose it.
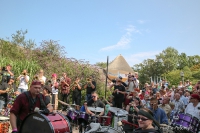
<instances>
[{"instance_id":1,"label":"wispy diagonal white cloud streak high above the thatched roof","mask_svg":"<svg viewBox=\"0 0 200 133\"><path fill-rule=\"evenodd\" d=\"M133 26L133 25L129 25L128 28L126 28L125 30L126 30L126 34L124 34L121 37L121 39L119 40L119 42L117 42L117 44L101 48L100 51L111 51L111 50L119 49L119 48L120 49L128 48L129 43L131 42L132 33L141 34L141 32L139 30L137 30L135 28L135 26Z\"/></svg>"}]
</instances>

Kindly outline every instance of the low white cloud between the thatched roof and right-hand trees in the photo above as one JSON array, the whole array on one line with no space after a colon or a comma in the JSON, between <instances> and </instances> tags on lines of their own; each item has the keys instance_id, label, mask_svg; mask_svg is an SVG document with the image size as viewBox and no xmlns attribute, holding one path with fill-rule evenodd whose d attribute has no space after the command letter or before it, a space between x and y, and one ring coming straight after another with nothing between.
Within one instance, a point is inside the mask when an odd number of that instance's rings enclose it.
<instances>
[{"instance_id":1,"label":"low white cloud between the thatched roof and right-hand trees","mask_svg":"<svg viewBox=\"0 0 200 133\"><path fill-rule=\"evenodd\" d=\"M127 63L132 67L135 64L142 63L145 59L155 59L155 55L161 53L162 51L150 51L150 52L140 52L132 54L130 56L125 56Z\"/></svg>"}]
</instances>

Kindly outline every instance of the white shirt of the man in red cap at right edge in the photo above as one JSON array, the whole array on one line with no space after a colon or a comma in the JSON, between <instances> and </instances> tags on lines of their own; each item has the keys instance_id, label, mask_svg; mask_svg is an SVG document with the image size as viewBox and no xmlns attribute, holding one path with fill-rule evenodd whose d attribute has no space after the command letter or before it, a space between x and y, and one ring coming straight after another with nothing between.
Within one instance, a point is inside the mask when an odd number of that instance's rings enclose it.
<instances>
[{"instance_id":1,"label":"white shirt of the man in red cap at right edge","mask_svg":"<svg viewBox=\"0 0 200 133\"><path fill-rule=\"evenodd\" d=\"M196 107L194 107L193 103L189 103L185 109L185 113L195 116L200 120L200 110L198 107L200 108L200 103Z\"/></svg>"}]
</instances>

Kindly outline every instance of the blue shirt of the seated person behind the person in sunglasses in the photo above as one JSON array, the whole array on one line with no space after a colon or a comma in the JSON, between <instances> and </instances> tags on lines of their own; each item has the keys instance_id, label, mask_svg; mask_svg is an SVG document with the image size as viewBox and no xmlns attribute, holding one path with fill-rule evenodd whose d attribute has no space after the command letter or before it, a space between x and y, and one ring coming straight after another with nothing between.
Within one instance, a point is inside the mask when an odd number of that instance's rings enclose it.
<instances>
[{"instance_id":1,"label":"blue shirt of the seated person behind the person in sunglasses","mask_svg":"<svg viewBox=\"0 0 200 133\"><path fill-rule=\"evenodd\" d=\"M161 108L157 108L156 110L153 110L150 108L150 110L153 112L154 119L159 123L159 124L168 124L168 118L165 113L165 111Z\"/></svg>"}]
</instances>

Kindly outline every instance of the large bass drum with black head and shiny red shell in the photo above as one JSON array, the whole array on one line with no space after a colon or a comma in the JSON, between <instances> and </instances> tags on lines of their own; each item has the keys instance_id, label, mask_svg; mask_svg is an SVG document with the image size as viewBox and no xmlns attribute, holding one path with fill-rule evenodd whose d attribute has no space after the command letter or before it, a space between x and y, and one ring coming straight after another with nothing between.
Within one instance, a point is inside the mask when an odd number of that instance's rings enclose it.
<instances>
[{"instance_id":1,"label":"large bass drum with black head and shiny red shell","mask_svg":"<svg viewBox=\"0 0 200 133\"><path fill-rule=\"evenodd\" d=\"M22 121L19 133L72 133L67 117L60 113L31 113Z\"/></svg>"}]
</instances>

